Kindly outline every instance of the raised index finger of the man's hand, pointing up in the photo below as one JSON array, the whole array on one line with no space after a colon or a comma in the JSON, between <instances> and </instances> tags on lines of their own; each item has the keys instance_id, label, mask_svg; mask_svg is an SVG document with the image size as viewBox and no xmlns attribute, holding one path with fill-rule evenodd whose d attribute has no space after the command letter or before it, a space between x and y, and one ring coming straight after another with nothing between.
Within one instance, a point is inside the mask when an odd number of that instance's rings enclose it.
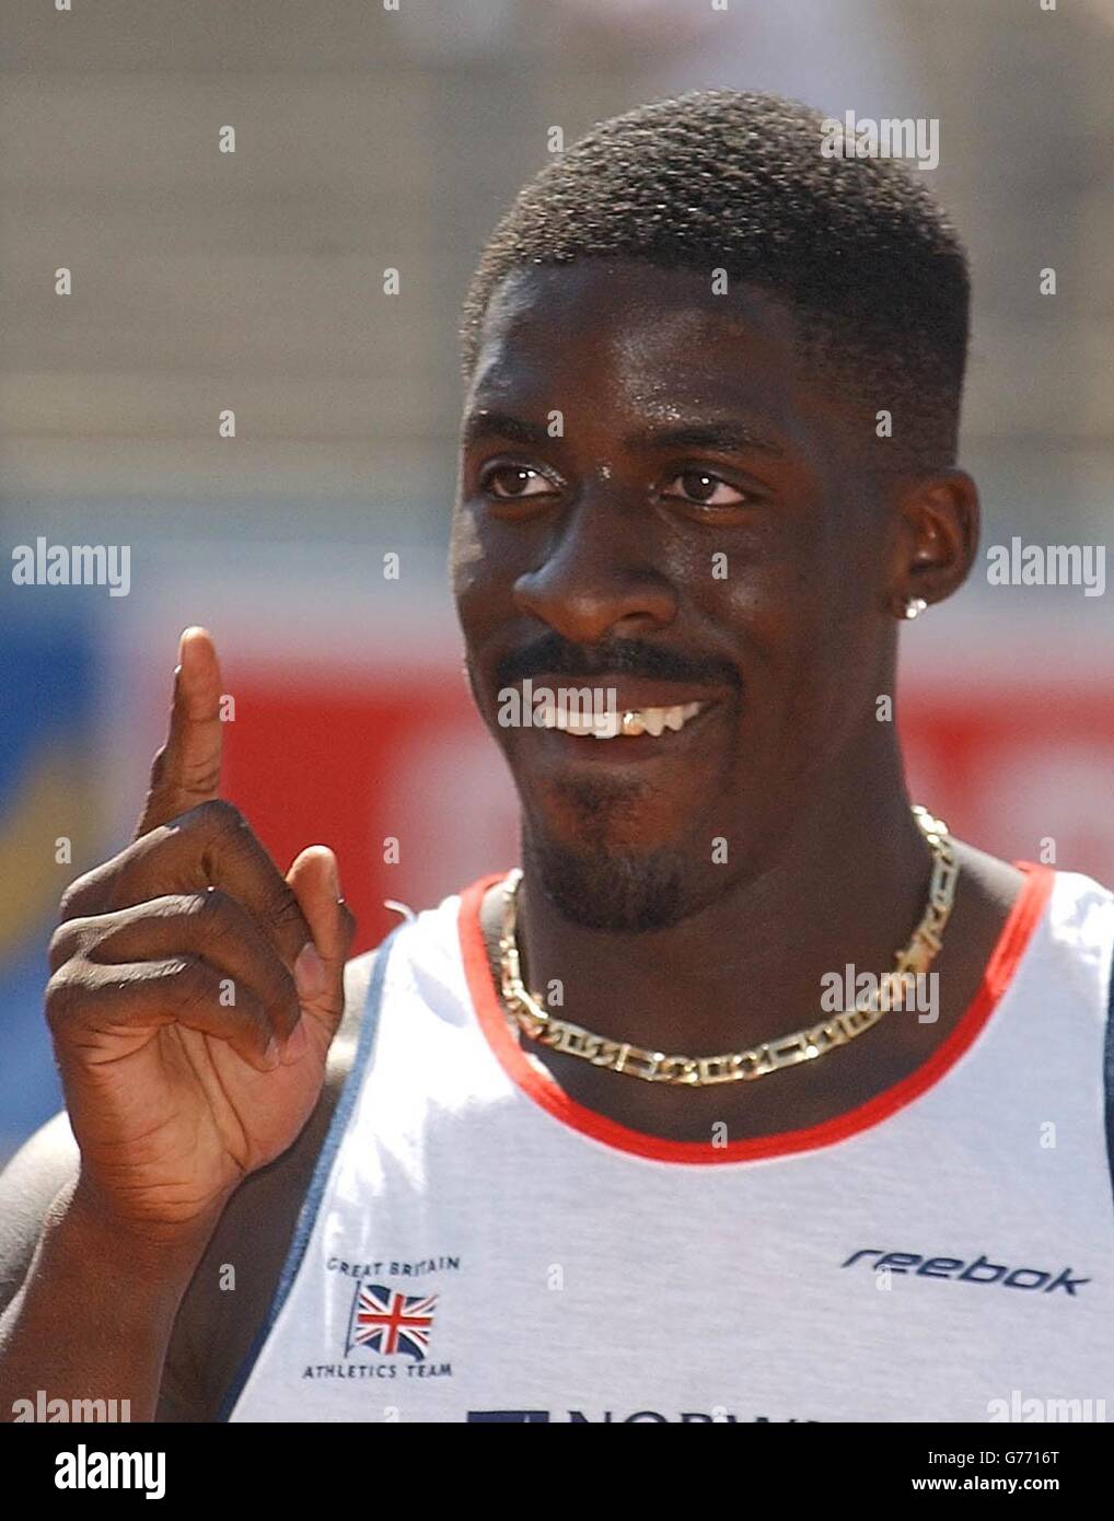
<instances>
[{"instance_id":1,"label":"raised index finger of the man's hand, pointing up","mask_svg":"<svg viewBox=\"0 0 1114 1521\"><path fill-rule=\"evenodd\" d=\"M178 669L166 744L151 767L151 789L135 838L221 795L221 666L207 628L178 640Z\"/></svg>"}]
</instances>

